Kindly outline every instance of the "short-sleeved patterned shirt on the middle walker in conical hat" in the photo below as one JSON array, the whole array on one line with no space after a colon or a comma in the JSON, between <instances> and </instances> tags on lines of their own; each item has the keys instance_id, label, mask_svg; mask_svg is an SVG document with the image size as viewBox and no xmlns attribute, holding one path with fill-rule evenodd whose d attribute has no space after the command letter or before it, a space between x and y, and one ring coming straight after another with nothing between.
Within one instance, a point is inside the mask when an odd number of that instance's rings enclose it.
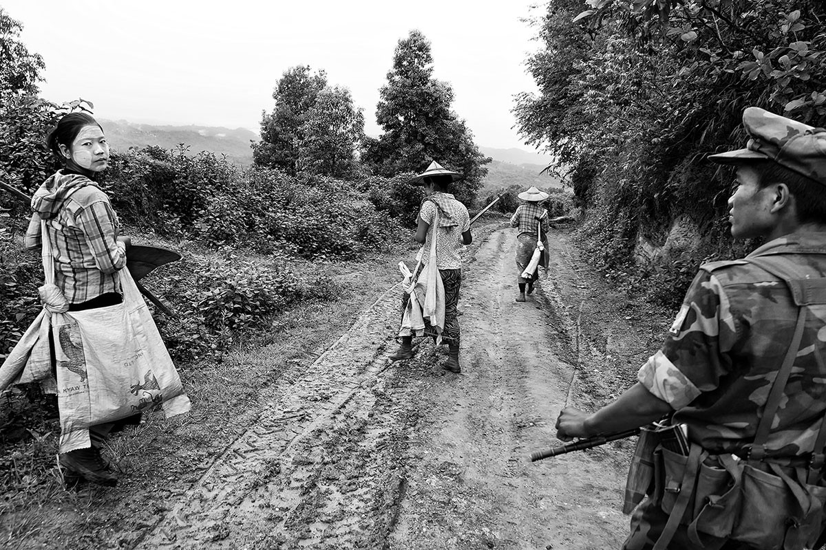
<instances>
[{"instance_id":1,"label":"short-sleeved patterned shirt on the middle walker in conical hat","mask_svg":"<svg viewBox=\"0 0 826 550\"><path fill-rule=\"evenodd\" d=\"M435 201L435 202L434 202ZM439 204L439 206L436 205ZM430 229L422 247L422 264L430 257L430 243L433 237L433 220L439 210L439 227L436 228L436 267L440 270L458 270L462 267L462 233L470 229L470 216L465 205L449 193L434 193L425 199L419 216Z\"/></svg>"}]
</instances>

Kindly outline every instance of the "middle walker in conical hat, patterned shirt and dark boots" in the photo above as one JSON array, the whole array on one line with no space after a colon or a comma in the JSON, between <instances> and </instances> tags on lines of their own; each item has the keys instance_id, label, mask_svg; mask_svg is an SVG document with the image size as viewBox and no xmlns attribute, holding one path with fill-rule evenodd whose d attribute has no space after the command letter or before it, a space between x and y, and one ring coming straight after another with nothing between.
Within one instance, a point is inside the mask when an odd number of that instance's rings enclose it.
<instances>
[{"instance_id":1,"label":"middle walker in conical hat, patterned shirt and dark boots","mask_svg":"<svg viewBox=\"0 0 826 550\"><path fill-rule=\"evenodd\" d=\"M437 334L440 333L442 341L447 342L449 358L442 365L453 373L462 371L459 366L459 322L458 322L458 301L459 288L462 285L462 260L458 255L463 245L472 242L470 233L470 216L465 205L460 203L449 193L450 186L454 181L462 179L462 174L453 172L441 167L438 162L430 162L430 166L418 176L411 180L415 186L425 186L427 197L422 201L416 233L413 237L415 242L419 242L422 247L419 251L420 264L414 270L413 278L420 277L427 272L430 267L431 284L429 292L434 303L425 305L425 317L429 312L434 313L430 321L430 329ZM435 223L434 223L435 222ZM435 266L432 262L435 262ZM434 268L438 269L438 277L434 274ZM439 285L440 283L440 285ZM443 292L437 292L434 287L441 286ZM405 360L413 357L412 341L414 332L417 335L423 334L422 325L411 327L409 322L411 313L410 296L406 296L403 307L405 308L405 319L402 322L399 336L401 346L396 353L390 356L391 360ZM425 300L420 300L425 302ZM444 312L444 313L442 313ZM439 327L434 322L437 317L444 314L444 324ZM415 323L414 323L415 324Z\"/></svg>"}]
</instances>

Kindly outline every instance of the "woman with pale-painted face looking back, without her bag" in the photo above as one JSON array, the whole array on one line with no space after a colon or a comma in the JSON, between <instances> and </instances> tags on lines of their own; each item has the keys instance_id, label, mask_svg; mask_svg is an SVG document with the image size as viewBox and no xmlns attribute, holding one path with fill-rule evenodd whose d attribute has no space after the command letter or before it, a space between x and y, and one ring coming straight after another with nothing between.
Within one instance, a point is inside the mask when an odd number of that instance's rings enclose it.
<instances>
[{"instance_id":1,"label":"woman with pale-painted face looking back, without her bag","mask_svg":"<svg viewBox=\"0 0 826 550\"><path fill-rule=\"evenodd\" d=\"M87 113L59 120L46 140L64 167L36 190L27 247L40 247L40 220L45 220L55 285L69 302L69 312L103 308L122 302L116 271L126 266L129 237L120 237L112 204L97 183L108 167L109 145L100 125ZM136 423L140 415L121 421ZM90 449L61 454L60 465L89 482L114 485L117 477L102 458L100 445L114 423L89 428Z\"/></svg>"}]
</instances>

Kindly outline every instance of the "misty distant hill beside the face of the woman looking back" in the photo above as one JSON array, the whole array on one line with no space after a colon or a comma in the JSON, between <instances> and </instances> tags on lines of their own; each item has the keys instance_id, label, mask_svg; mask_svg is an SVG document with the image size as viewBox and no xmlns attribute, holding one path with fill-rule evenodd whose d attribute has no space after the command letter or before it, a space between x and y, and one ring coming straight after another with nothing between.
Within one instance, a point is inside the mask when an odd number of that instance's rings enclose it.
<instances>
[{"instance_id":1,"label":"misty distant hill beside the face of the woman looking back","mask_svg":"<svg viewBox=\"0 0 826 550\"><path fill-rule=\"evenodd\" d=\"M244 128L228 129L215 126L157 126L128 122L126 120L100 120L113 149L126 151L130 147L143 148L157 145L164 149L178 148L178 143L189 146L192 154L210 151L224 154L230 162L249 165L253 162L250 140L258 141L259 135Z\"/></svg>"}]
</instances>

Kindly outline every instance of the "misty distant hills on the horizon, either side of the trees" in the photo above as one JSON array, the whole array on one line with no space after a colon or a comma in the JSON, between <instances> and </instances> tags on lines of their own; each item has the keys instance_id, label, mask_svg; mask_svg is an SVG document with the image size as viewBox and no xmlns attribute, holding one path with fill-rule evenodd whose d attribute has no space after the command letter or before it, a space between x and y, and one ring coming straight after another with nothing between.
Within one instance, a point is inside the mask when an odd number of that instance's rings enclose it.
<instances>
[{"instance_id":1,"label":"misty distant hills on the horizon, either side of the trees","mask_svg":"<svg viewBox=\"0 0 826 550\"><path fill-rule=\"evenodd\" d=\"M260 139L259 134L245 128L224 128L202 125L150 125L128 120L99 120L110 145L116 151L131 147L157 146L166 150L177 149L179 143L188 146L192 155L209 151L218 157L240 166L253 163L250 143ZM479 146L479 150L493 162L487 165L488 176L482 185L487 189L500 186L554 186L561 184L539 176L553 157L543 153L531 153L520 148L491 148Z\"/></svg>"}]
</instances>

